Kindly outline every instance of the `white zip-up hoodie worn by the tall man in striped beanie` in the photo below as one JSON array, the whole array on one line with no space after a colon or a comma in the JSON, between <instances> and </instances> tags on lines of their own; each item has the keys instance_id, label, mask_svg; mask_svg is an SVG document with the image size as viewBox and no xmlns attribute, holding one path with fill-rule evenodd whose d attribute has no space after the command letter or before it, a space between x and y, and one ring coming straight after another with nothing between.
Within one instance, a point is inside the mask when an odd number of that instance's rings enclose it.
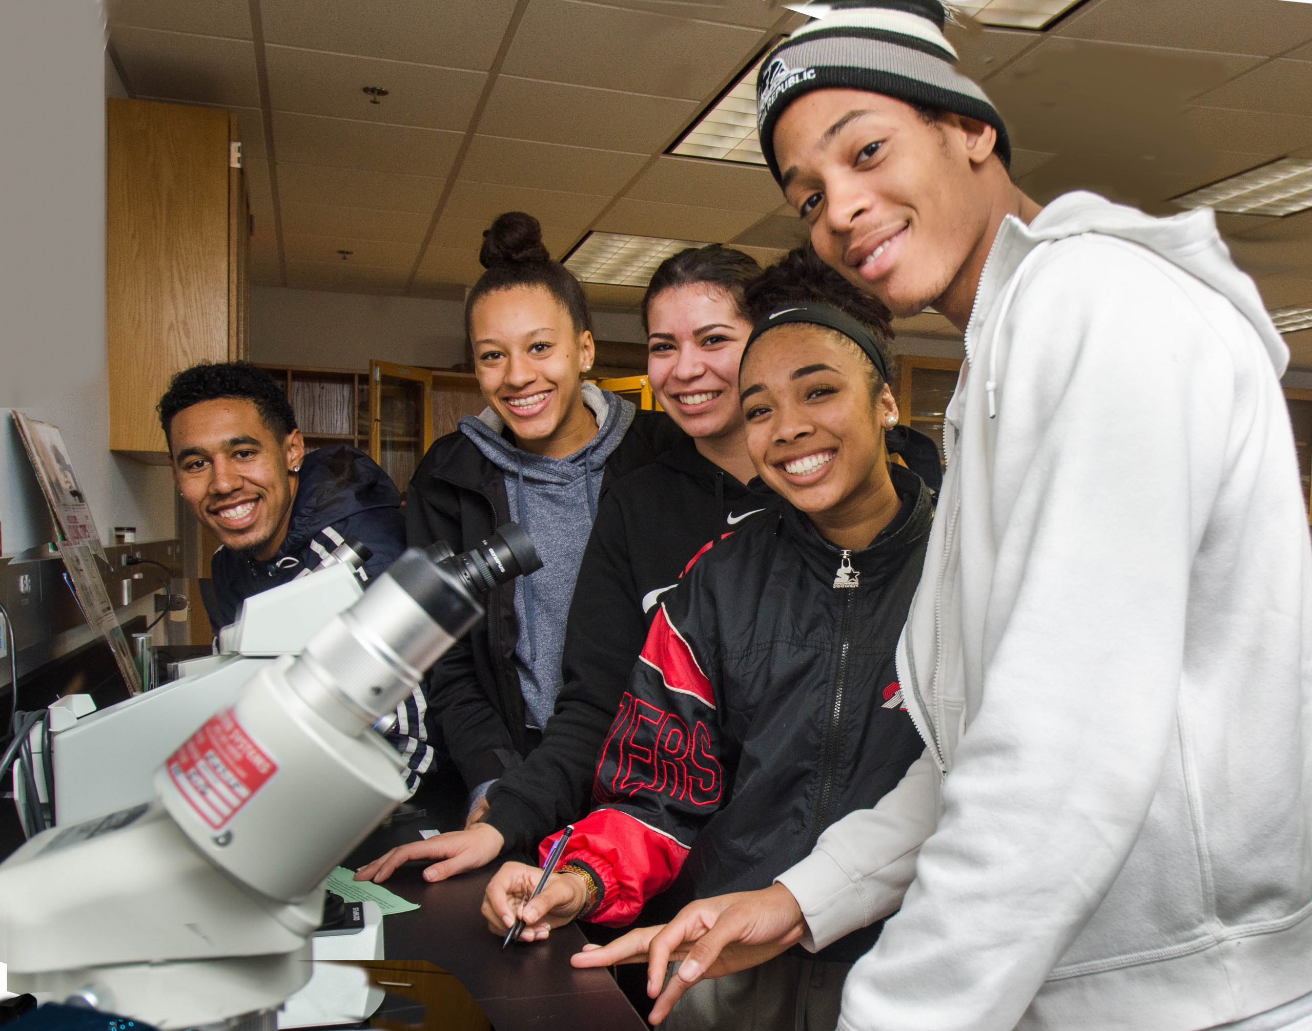
<instances>
[{"instance_id":1,"label":"white zip-up hoodie worn by the tall man in striped beanie","mask_svg":"<svg viewBox=\"0 0 1312 1031\"><path fill-rule=\"evenodd\" d=\"M840 1028L1312 990L1312 547L1257 289L1210 211L1073 193L1002 224L966 353L897 656L925 754L779 878L810 947L901 906Z\"/></svg>"}]
</instances>

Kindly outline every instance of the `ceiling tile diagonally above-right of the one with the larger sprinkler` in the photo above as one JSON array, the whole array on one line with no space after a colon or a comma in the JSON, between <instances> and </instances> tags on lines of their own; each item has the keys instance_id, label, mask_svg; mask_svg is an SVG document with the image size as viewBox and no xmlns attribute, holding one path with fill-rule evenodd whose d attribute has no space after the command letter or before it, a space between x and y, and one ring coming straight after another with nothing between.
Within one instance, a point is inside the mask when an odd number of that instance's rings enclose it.
<instances>
[{"instance_id":1,"label":"ceiling tile diagonally above-right of the one with the larger sprinkler","mask_svg":"<svg viewBox=\"0 0 1312 1031\"><path fill-rule=\"evenodd\" d=\"M705 101L764 45L761 33L581 0L534 0L502 71L554 83Z\"/></svg>"}]
</instances>

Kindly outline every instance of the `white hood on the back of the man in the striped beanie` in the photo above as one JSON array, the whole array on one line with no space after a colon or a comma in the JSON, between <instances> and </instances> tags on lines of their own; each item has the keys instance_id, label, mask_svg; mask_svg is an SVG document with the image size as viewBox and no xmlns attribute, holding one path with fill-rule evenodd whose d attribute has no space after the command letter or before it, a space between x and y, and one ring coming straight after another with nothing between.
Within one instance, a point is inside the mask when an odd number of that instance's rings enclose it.
<instances>
[{"instance_id":1,"label":"white hood on the back of the man in the striped beanie","mask_svg":"<svg viewBox=\"0 0 1312 1031\"><path fill-rule=\"evenodd\" d=\"M1216 230L1216 215L1211 209L1200 207L1182 215L1153 218L1139 209L1115 205L1085 190L1063 194L1029 226L1014 215L1002 220L980 278L975 311L966 327L967 340L1030 252L1042 243L1086 232L1139 244L1221 294L1253 324L1266 346L1275 375L1284 375L1290 349L1271 323L1257 285L1235 266L1229 248Z\"/></svg>"}]
</instances>

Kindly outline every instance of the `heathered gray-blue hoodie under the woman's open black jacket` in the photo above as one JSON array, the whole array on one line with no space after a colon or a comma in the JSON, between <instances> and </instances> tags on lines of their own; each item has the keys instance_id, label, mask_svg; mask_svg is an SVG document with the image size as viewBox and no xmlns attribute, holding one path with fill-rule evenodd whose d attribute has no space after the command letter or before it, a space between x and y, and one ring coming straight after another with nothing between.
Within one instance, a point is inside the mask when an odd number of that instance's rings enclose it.
<instances>
[{"instance_id":1,"label":"heathered gray-blue hoodie under the woman's open black jacket","mask_svg":"<svg viewBox=\"0 0 1312 1031\"><path fill-rule=\"evenodd\" d=\"M543 728L560 691L565 617L583 550L601 496L602 467L634 421L634 405L593 383L583 401L597 417L597 435L567 458L546 458L516 447L491 408L461 420L461 433L505 472L510 513L533 538L542 568L514 581L520 637L514 647L520 690L530 727Z\"/></svg>"}]
</instances>

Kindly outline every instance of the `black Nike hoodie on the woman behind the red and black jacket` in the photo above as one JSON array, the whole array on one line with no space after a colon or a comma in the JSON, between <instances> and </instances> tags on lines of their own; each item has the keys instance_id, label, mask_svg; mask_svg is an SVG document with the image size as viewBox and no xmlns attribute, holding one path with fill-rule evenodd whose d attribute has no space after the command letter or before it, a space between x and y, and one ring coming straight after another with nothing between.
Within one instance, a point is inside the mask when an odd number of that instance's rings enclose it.
<instances>
[{"instance_id":1,"label":"black Nike hoodie on the woman behind the red and black jacket","mask_svg":"<svg viewBox=\"0 0 1312 1031\"><path fill-rule=\"evenodd\" d=\"M938 489L938 450L920 433L890 430L888 447ZM535 846L588 808L597 752L656 614L663 589L720 534L773 510L775 495L744 487L684 438L602 495L565 630L564 685L542 744L488 791L484 817L508 850Z\"/></svg>"}]
</instances>

